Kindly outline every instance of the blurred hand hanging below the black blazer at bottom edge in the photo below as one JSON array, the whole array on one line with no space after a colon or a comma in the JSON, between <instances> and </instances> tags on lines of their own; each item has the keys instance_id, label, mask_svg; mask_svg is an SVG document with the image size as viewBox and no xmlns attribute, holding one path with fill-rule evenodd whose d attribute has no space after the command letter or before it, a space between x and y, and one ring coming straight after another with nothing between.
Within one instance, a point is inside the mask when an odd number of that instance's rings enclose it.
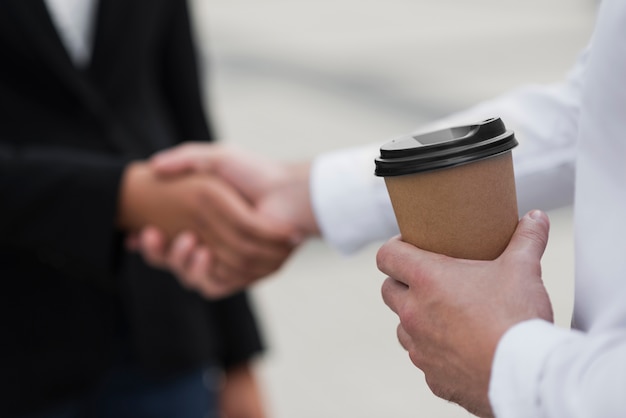
<instances>
[{"instance_id":1,"label":"blurred hand hanging below the black blazer at bottom edge","mask_svg":"<svg viewBox=\"0 0 626 418\"><path fill-rule=\"evenodd\" d=\"M265 418L260 386L252 365L228 370L220 393L221 418Z\"/></svg>"}]
</instances>

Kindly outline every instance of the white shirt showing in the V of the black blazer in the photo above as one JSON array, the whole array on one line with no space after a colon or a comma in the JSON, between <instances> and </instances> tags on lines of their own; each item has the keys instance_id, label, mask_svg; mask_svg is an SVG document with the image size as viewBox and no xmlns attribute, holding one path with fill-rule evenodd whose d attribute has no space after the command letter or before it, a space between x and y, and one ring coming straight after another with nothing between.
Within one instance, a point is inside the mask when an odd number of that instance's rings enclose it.
<instances>
[{"instance_id":1,"label":"white shirt showing in the V of the black blazer","mask_svg":"<svg viewBox=\"0 0 626 418\"><path fill-rule=\"evenodd\" d=\"M45 0L52 22L74 64L83 68L91 59L96 0Z\"/></svg>"}]
</instances>

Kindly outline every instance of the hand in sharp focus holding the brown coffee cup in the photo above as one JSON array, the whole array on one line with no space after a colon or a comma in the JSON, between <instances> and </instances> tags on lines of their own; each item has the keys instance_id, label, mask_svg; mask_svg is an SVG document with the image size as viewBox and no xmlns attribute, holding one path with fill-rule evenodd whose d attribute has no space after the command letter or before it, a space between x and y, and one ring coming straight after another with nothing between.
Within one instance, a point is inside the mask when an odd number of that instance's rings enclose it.
<instances>
[{"instance_id":1,"label":"hand in sharp focus holding the brown coffee cup","mask_svg":"<svg viewBox=\"0 0 626 418\"><path fill-rule=\"evenodd\" d=\"M389 276L382 296L399 316L398 339L435 395L493 416L488 389L500 338L525 320L553 321L540 264L548 232L548 217L529 212L493 261L430 253L399 237L379 250L378 268Z\"/></svg>"}]
</instances>

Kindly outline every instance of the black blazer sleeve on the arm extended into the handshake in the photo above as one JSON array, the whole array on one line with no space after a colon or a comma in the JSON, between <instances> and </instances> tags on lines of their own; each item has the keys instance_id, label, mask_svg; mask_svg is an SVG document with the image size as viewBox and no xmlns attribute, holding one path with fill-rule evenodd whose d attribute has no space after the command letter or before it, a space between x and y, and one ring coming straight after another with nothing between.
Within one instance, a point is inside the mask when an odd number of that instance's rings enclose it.
<instances>
[{"instance_id":1,"label":"black blazer sleeve on the arm extended into the handshake","mask_svg":"<svg viewBox=\"0 0 626 418\"><path fill-rule=\"evenodd\" d=\"M70 275L108 278L119 237L111 214L126 161L0 141L0 246Z\"/></svg>"}]
</instances>

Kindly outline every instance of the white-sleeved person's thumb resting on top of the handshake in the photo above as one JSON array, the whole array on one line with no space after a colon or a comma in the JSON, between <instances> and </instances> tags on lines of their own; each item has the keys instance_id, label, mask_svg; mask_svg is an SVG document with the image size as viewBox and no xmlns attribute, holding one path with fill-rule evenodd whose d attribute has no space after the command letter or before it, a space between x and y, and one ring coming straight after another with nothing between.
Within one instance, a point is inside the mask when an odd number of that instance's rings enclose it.
<instances>
[{"instance_id":1,"label":"white-sleeved person's thumb resting on top of the handshake","mask_svg":"<svg viewBox=\"0 0 626 418\"><path fill-rule=\"evenodd\" d=\"M177 175L211 171L217 158L217 148L207 144L187 143L154 154L149 164L157 174Z\"/></svg>"}]
</instances>

